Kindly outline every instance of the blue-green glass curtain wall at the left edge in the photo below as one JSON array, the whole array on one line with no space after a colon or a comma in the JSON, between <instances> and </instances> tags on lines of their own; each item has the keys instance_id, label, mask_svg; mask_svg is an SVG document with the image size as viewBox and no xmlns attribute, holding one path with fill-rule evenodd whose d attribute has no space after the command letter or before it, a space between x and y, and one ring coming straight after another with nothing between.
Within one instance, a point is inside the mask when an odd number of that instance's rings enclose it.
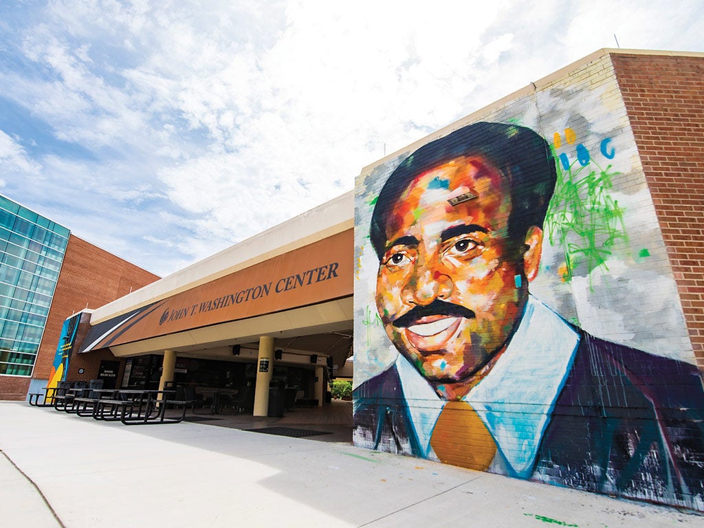
<instances>
[{"instance_id":1,"label":"blue-green glass curtain wall at the left edge","mask_svg":"<svg viewBox=\"0 0 704 528\"><path fill-rule=\"evenodd\" d=\"M0 196L0 375L32 375L69 233Z\"/></svg>"}]
</instances>

